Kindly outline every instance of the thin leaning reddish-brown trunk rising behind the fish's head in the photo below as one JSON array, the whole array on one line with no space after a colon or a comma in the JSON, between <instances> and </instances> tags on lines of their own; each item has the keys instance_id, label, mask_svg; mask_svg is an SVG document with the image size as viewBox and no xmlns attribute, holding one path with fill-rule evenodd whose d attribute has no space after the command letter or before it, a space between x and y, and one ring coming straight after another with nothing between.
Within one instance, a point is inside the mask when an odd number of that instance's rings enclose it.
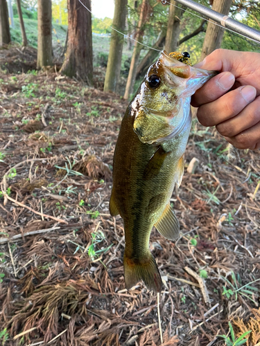
<instances>
[{"instance_id":1,"label":"thin leaning reddish-brown trunk rising behind the fish's head","mask_svg":"<svg viewBox=\"0 0 260 346\"><path fill-rule=\"evenodd\" d=\"M139 59L139 55L141 51L141 44L139 44L138 42L142 42L143 40L144 30L142 30L142 26L144 25L144 21L146 20L146 13L147 13L147 0L143 0L141 3L137 34L135 36L136 41L134 44L134 51L132 53L130 70L128 73L128 81L126 82L125 95L123 96L125 99L128 99L130 97L134 89L135 78L137 75L137 63L138 63L138 59Z\"/></svg>"}]
</instances>

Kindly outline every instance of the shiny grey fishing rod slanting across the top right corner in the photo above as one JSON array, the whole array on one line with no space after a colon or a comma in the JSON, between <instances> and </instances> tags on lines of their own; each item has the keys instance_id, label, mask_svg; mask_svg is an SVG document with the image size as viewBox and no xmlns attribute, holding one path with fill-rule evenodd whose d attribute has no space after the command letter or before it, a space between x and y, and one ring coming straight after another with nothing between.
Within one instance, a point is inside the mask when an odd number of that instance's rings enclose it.
<instances>
[{"instance_id":1,"label":"shiny grey fishing rod slanting across the top right corner","mask_svg":"<svg viewBox=\"0 0 260 346\"><path fill-rule=\"evenodd\" d=\"M190 8L191 10L194 10L200 13L200 15L209 17L209 19L216 21L223 28L233 30L235 33L238 33L240 35L253 39L254 41L260 44L259 30L251 28L250 26L247 26L245 24L242 24L240 21L236 21L230 18L229 16L222 15L221 13L211 10L211 8L207 8L206 6L200 5L200 3L196 3L196 1L193 1L193 0L175 0L175 1L177 3L180 3L181 5L187 6L187 8ZM168 1L162 0L162 3L163 4L168 3Z\"/></svg>"}]
</instances>

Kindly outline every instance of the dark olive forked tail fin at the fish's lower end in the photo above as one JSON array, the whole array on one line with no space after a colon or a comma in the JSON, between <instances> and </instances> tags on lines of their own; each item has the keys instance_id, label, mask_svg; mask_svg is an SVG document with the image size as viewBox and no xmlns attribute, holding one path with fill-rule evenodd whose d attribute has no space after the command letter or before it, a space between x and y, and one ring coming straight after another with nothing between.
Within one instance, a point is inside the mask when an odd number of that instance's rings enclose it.
<instances>
[{"instance_id":1,"label":"dark olive forked tail fin at the fish's lower end","mask_svg":"<svg viewBox=\"0 0 260 346\"><path fill-rule=\"evenodd\" d=\"M130 289L137 282L143 280L148 289L155 292L162 291L162 279L155 262L155 257L149 253L146 259L137 260L123 257L123 268L125 274L125 287Z\"/></svg>"}]
</instances>

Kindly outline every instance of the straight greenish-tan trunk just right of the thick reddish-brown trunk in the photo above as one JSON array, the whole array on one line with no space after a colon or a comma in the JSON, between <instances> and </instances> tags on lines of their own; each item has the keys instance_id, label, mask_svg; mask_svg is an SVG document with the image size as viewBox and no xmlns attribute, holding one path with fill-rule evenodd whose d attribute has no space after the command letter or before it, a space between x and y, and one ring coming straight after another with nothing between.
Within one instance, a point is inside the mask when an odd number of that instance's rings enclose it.
<instances>
[{"instance_id":1,"label":"straight greenish-tan trunk just right of the thick reddish-brown trunk","mask_svg":"<svg viewBox=\"0 0 260 346\"><path fill-rule=\"evenodd\" d=\"M116 0L114 3L114 18L112 27L121 33L125 30L126 6L128 0ZM116 85L121 71L123 51L123 35L112 30L110 41L110 53L105 73L104 91L116 92Z\"/></svg>"}]
</instances>

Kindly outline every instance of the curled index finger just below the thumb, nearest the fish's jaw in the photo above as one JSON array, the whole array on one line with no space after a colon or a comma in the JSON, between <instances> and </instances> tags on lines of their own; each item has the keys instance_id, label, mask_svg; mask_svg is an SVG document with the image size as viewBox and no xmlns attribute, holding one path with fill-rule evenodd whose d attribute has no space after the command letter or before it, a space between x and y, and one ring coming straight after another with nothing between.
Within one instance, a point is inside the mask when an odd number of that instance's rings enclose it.
<instances>
[{"instance_id":1,"label":"curled index finger just below the thumb, nearest the fish's jaw","mask_svg":"<svg viewBox=\"0 0 260 346\"><path fill-rule=\"evenodd\" d=\"M191 98L191 106L200 107L201 104L209 103L220 98L232 88L235 82L231 72L223 72L211 78Z\"/></svg>"}]
</instances>

